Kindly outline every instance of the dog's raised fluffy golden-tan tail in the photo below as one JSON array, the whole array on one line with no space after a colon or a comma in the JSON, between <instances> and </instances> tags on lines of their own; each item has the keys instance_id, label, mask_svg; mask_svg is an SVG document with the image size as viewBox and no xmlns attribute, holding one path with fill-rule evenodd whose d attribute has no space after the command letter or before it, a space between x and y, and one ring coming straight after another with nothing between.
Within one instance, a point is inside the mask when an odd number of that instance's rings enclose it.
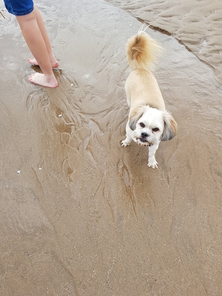
<instances>
[{"instance_id":1,"label":"dog's raised fluffy golden-tan tail","mask_svg":"<svg viewBox=\"0 0 222 296\"><path fill-rule=\"evenodd\" d=\"M153 71L157 57L163 48L145 32L146 29L142 30L142 28L135 36L128 39L126 57L132 70L145 68Z\"/></svg>"}]
</instances>

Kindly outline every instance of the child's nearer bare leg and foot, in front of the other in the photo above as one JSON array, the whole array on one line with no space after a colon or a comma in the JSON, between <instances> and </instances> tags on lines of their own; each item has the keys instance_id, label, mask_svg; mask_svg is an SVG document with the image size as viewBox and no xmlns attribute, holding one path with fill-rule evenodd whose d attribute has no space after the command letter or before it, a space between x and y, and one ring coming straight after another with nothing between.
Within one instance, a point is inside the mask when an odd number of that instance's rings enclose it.
<instances>
[{"instance_id":1,"label":"child's nearer bare leg and foot, in front of the other","mask_svg":"<svg viewBox=\"0 0 222 296\"><path fill-rule=\"evenodd\" d=\"M27 15L16 16L16 19L30 51L44 73L32 74L28 77L28 80L42 86L57 87L58 83L52 72L52 65L49 60L46 44L38 27L35 10Z\"/></svg>"}]
</instances>

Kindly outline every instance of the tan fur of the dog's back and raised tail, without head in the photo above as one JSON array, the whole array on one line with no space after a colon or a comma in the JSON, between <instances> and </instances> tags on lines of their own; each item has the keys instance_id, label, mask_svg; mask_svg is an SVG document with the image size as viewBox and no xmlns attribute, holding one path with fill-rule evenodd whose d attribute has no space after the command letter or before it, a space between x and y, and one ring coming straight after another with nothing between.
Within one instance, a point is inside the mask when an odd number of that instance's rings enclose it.
<instances>
[{"instance_id":1,"label":"tan fur of the dog's back and raised tail, without head","mask_svg":"<svg viewBox=\"0 0 222 296\"><path fill-rule=\"evenodd\" d=\"M162 47L144 31L139 31L127 41L126 57L132 69L125 84L126 97L131 105L129 115L142 105L166 110L158 83L149 71L154 69L162 51Z\"/></svg>"}]
</instances>

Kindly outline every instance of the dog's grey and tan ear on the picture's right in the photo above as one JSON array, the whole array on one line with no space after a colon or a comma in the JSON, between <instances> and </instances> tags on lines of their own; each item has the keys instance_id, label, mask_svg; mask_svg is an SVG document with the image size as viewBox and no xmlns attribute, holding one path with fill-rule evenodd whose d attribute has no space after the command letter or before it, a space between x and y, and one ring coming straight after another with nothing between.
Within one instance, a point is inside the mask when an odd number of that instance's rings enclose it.
<instances>
[{"instance_id":1,"label":"dog's grey and tan ear on the picture's right","mask_svg":"<svg viewBox=\"0 0 222 296\"><path fill-rule=\"evenodd\" d=\"M164 128L163 134L160 138L161 141L172 140L177 135L177 123L173 116L168 112L163 112Z\"/></svg>"}]
</instances>

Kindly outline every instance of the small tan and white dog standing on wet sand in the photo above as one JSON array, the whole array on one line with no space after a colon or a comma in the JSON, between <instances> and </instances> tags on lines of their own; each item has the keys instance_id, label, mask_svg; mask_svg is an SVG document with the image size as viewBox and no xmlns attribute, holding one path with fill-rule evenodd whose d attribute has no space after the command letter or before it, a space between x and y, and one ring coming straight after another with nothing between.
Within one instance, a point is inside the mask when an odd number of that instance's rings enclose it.
<instances>
[{"instance_id":1,"label":"small tan and white dog standing on wet sand","mask_svg":"<svg viewBox=\"0 0 222 296\"><path fill-rule=\"evenodd\" d=\"M142 28L128 39L127 60L132 69L126 80L125 91L129 111L126 139L123 147L131 140L141 146L149 146L148 167L157 168L155 152L160 141L173 139L177 134L177 123L166 111L163 96L153 70L157 55L163 50ZM148 70L149 69L149 70Z\"/></svg>"}]
</instances>

